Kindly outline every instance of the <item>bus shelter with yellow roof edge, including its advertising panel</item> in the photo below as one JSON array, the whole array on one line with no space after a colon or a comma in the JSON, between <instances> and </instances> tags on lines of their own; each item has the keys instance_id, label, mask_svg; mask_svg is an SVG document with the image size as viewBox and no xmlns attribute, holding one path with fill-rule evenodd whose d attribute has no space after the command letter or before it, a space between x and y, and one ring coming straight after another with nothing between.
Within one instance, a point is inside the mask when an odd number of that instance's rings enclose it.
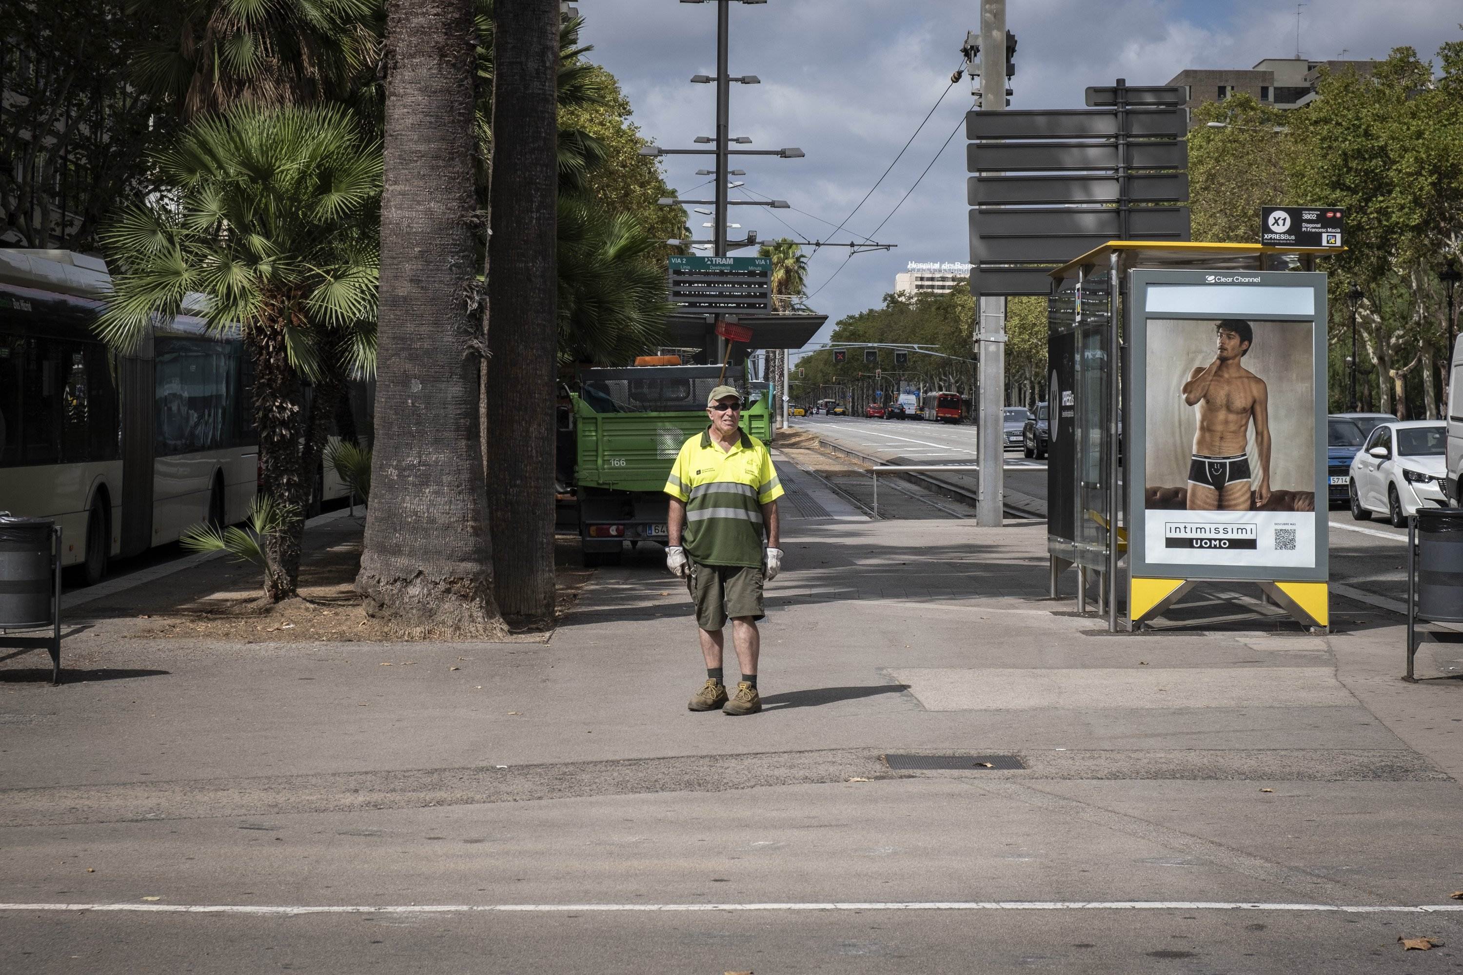
<instances>
[{"instance_id":1,"label":"bus shelter with yellow roof edge, including its advertising panel","mask_svg":"<svg viewBox=\"0 0 1463 975\"><path fill-rule=\"evenodd\" d=\"M1050 272L1053 598L1075 567L1086 611L1096 576L1118 631L1200 582L1257 582L1328 624L1315 257L1334 250L1110 241Z\"/></svg>"}]
</instances>

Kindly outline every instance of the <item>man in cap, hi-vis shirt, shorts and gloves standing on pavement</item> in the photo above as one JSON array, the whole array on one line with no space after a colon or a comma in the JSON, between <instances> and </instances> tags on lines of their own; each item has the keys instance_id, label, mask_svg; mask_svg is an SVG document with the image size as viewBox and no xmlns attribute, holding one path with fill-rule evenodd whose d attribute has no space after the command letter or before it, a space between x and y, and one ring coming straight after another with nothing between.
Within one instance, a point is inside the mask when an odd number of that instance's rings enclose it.
<instances>
[{"instance_id":1,"label":"man in cap, hi-vis shirt, shorts and gloves standing on pavement","mask_svg":"<svg viewBox=\"0 0 1463 975\"><path fill-rule=\"evenodd\" d=\"M783 567L783 550L777 547L777 498L783 485L767 444L742 433L742 396L734 389L712 389L707 417L711 425L682 444L666 479L670 496L666 566L691 589L701 653L707 658L707 683L688 707L755 715L762 710L756 693L761 650L756 623L765 615L762 583L775 579ZM727 620L742 665L742 680L730 699L721 681L726 646L721 630Z\"/></svg>"}]
</instances>

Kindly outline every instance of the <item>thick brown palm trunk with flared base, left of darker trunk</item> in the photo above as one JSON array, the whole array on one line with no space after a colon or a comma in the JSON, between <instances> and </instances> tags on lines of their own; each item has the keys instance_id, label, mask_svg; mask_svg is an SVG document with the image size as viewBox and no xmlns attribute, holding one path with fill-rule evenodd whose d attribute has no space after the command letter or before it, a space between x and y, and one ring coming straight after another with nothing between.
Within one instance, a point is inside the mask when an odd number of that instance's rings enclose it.
<instances>
[{"instance_id":1,"label":"thick brown palm trunk with flared base, left of darker trunk","mask_svg":"<svg viewBox=\"0 0 1463 975\"><path fill-rule=\"evenodd\" d=\"M473 3L389 0L367 611L503 636L478 449Z\"/></svg>"}]
</instances>

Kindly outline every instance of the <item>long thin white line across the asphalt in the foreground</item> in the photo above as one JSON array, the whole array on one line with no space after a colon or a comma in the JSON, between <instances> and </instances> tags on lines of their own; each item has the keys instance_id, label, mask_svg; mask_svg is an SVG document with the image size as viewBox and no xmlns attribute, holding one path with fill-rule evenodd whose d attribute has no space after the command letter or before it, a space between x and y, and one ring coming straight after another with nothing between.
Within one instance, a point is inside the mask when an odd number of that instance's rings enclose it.
<instances>
[{"instance_id":1,"label":"long thin white line across the asphalt in the foreground","mask_svg":"<svg viewBox=\"0 0 1463 975\"><path fill-rule=\"evenodd\" d=\"M1444 914L1463 903L1265 903L1260 900L830 900L791 903L411 903L411 905L253 905L253 903L0 903L0 911L123 911L138 914L588 914L710 911L1289 911L1325 914Z\"/></svg>"}]
</instances>

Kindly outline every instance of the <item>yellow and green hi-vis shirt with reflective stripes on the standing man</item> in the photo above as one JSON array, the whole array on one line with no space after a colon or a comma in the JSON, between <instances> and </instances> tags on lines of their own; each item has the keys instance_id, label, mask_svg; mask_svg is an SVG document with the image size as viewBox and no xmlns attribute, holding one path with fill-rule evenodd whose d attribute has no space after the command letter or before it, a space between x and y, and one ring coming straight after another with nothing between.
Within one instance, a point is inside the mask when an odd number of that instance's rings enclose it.
<instances>
[{"instance_id":1,"label":"yellow and green hi-vis shirt with reflective stripes on the standing man","mask_svg":"<svg viewBox=\"0 0 1463 975\"><path fill-rule=\"evenodd\" d=\"M767 444L743 430L734 447L711 441L711 430L680 447L666 494L686 503L682 544L701 566L761 566L762 504L783 497Z\"/></svg>"}]
</instances>

